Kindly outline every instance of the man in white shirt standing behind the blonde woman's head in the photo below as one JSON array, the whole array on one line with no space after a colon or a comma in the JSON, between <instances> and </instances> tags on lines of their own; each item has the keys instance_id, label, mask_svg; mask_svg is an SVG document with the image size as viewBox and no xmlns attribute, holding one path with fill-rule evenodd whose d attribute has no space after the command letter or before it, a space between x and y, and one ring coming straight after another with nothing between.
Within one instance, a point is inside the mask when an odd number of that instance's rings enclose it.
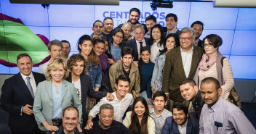
<instances>
[{"instance_id":1,"label":"man in white shirt standing behind the blonde woman's head","mask_svg":"<svg viewBox=\"0 0 256 134\"><path fill-rule=\"evenodd\" d=\"M62 56L63 54L63 43L61 43L59 40L52 40L48 43L48 53L52 58L60 58L60 56ZM39 66L39 70L37 72L47 75L46 70L47 70L47 66L49 64L48 62L45 62L44 64L41 64Z\"/></svg>"}]
</instances>

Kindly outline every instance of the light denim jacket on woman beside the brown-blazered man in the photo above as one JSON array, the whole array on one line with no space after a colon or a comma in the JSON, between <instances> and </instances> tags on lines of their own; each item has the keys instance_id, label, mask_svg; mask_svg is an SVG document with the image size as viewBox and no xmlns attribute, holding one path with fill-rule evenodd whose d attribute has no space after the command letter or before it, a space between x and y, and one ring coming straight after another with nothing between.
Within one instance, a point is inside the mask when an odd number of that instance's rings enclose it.
<instances>
[{"instance_id":1,"label":"light denim jacket on woman beside the brown-blazered man","mask_svg":"<svg viewBox=\"0 0 256 134\"><path fill-rule=\"evenodd\" d=\"M166 54L161 54L160 56L159 56L159 54L160 54L160 52L157 54L155 67L153 67L151 87L155 86L155 81L156 80L161 81L162 78L163 78Z\"/></svg>"}]
</instances>

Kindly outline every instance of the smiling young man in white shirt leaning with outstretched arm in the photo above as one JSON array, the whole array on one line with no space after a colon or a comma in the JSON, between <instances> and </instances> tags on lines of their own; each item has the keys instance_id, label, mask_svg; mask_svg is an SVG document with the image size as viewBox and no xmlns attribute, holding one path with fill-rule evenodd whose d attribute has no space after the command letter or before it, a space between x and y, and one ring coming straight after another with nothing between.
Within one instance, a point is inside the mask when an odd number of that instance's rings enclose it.
<instances>
[{"instance_id":1,"label":"smiling young man in white shirt leaning with outstretched arm","mask_svg":"<svg viewBox=\"0 0 256 134\"><path fill-rule=\"evenodd\" d=\"M106 97L100 100L97 105L93 106L91 111L89 112L87 125L84 127L86 130L92 129L93 122L92 118L94 118L100 110L100 106L103 104L111 104L114 109L114 117L113 119L121 122L124 113L127 111L129 106L132 106L133 98L132 94L128 93L129 91L129 78L126 75L120 75L116 79L116 92L113 92L114 99L113 101L108 101Z\"/></svg>"}]
</instances>

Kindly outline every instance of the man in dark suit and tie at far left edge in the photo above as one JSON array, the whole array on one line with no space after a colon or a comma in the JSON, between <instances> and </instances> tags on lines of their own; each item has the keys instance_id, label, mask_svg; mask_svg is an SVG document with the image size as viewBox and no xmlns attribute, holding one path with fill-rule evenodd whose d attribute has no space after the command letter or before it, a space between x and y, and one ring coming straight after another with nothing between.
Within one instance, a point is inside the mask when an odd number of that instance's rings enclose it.
<instances>
[{"instance_id":1,"label":"man in dark suit and tie at far left edge","mask_svg":"<svg viewBox=\"0 0 256 134\"><path fill-rule=\"evenodd\" d=\"M36 85L45 76L32 72L33 62L28 54L17 56L20 72L4 81L1 88L1 108L9 112L9 126L12 134L41 133L33 115L33 97Z\"/></svg>"}]
</instances>

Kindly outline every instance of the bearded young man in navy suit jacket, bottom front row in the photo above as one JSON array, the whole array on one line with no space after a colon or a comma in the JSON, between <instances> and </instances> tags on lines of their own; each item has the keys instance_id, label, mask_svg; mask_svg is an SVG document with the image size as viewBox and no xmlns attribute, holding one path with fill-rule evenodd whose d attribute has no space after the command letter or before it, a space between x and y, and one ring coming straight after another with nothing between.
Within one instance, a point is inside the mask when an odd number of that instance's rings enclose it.
<instances>
[{"instance_id":1,"label":"bearded young man in navy suit jacket, bottom front row","mask_svg":"<svg viewBox=\"0 0 256 134\"><path fill-rule=\"evenodd\" d=\"M188 115L184 104L176 104L172 109L172 117L167 117L161 134L170 133L199 133L199 120Z\"/></svg>"}]
</instances>

